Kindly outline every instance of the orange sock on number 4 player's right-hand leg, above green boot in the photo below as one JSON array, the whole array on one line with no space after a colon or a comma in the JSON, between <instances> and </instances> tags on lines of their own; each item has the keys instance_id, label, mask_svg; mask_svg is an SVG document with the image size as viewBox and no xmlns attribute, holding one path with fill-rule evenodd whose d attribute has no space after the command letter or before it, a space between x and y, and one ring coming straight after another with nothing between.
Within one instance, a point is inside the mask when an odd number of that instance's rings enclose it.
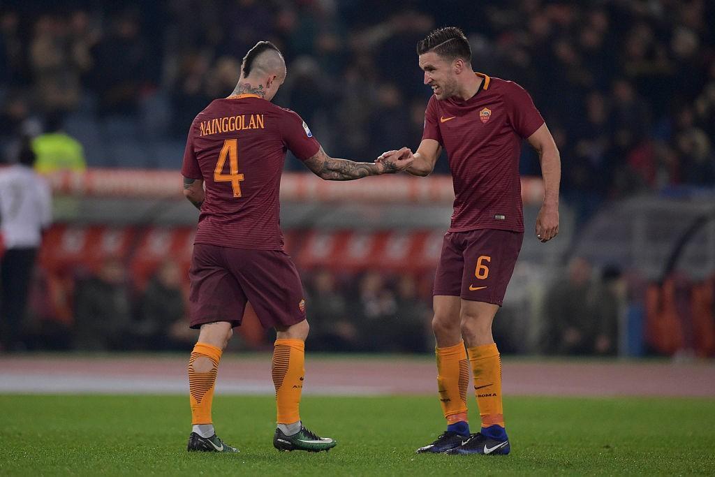
<instances>
[{"instance_id":1,"label":"orange sock on number 4 player's right-hand leg, above green boot","mask_svg":"<svg viewBox=\"0 0 715 477\"><path fill-rule=\"evenodd\" d=\"M300 394L305 375L305 343L302 340L275 340L271 374L279 424L300 421Z\"/></svg>"}]
</instances>

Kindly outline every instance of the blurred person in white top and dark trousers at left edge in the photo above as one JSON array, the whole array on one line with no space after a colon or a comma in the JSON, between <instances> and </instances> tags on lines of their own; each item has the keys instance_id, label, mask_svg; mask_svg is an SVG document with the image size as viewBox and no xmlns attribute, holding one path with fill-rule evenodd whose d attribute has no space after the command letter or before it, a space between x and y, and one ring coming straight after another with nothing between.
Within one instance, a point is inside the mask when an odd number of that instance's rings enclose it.
<instances>
[{"instance_id":1,"label":"blurred person in white top and dark trousers at left edge","mask_svg":"<svg viewBox=\"0 0 715 477\"><path fill-rule=\"evenodd\" d=\"M9 352L24 346L21 333L35 258L52 220L51 192L32 169L35 160L25 138L17 164L0 169L0 346Z\"/></svg>"}]
</instances>

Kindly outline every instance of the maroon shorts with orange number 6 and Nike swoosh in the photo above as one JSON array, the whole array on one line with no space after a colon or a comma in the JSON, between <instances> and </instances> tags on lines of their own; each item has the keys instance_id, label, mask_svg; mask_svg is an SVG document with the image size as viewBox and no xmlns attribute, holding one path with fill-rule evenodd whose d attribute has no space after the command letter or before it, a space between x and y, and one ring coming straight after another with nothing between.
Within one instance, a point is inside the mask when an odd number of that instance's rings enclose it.
<instances>
[{"instance_id":1,"label":"maroon shorts with orange number 6 and Nike swoosh","mask_svg":"<svg viewBox=\"0 0 715 477\"><path fill-rule=\"evenodd\" d=\"M432 294L501 306L523 237L509 230L447 232Z\"/></svg>"}]
</instances>

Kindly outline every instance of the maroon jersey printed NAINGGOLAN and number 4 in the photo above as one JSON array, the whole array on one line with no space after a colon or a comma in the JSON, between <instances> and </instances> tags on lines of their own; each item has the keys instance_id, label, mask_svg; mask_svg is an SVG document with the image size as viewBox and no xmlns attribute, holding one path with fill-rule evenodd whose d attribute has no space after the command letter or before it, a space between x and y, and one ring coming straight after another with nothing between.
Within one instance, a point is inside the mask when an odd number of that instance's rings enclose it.
<instances>
[{"instance_id":1,"label":"maroon jersey printed NAINGGOLAN and number 4","mask_svg":"<svg viewBox=\"0 0 715 477\"><path fill-rule=\"evenodd\" d=\"M282 250L280 176L285 153L315 155L320 144L303 120L255 94L216 99L189 130L182 175L202 179L194 243Z\"/></svg>"}]
</instances>

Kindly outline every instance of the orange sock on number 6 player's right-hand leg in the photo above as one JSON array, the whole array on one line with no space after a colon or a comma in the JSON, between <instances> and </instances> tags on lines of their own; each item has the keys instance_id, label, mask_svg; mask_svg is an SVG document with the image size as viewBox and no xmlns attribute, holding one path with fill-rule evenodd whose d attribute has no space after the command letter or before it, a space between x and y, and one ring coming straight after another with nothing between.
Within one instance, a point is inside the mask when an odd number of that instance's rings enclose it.
<instances>
[{"instance_id":1,"label":"orange sock on number 6 player's right-hand leg","mask_svg":"<svg viewBox=\"0 0 715 477\"><path fill-rule=\"evenodd\" d=\"M504 408L501 402L501 357L495 343L467 348L474 375L482 427L504 427Z\"/></svg>"}]
</instances>

